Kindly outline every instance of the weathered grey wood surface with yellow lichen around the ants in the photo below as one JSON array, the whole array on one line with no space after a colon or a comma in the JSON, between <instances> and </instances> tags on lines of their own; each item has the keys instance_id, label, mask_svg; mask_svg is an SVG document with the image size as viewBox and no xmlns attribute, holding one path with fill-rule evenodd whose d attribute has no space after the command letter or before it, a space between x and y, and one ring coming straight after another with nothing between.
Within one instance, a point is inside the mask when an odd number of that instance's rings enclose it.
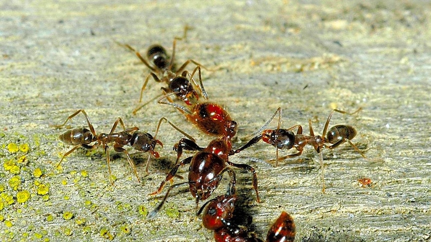
<instances>
[{"instance_id":1,"label":"weathered grey wood surface with yellow lichen around the ants","mask_svg":"<svg viewBox=\"0 0 431 242\"><path fill-rule=\"evenodd\" d=\"M367 159L348 144L324 149L324 194L310 146L277 168L232 156L255 167L262 200L256 203L251 175L238 171L242 225L264 238L285 210L296 223L295 241L431 240L428 1L12 0L0 9L0 241L213 240L185 187L172 191L156 219L145 220L167 190L149 196L173 166L172 146L182 137L167 124L160 127L164 146L156 147L160 158L152 159L149 175L147 154L127 148L138 162L140 184L112 147L113 187L102 148L76 150L55 169L71 147L58 140L66 128L50 125L80 108L96 132L109 132L121 117L125 126L153 134L164 116L206 146L211 137L173 107L153 101L132 115L149 70L115 42L143 55L153 43L170 52L185 26L177 63L194 59L211 69L202 71L203 83L209 99L238 123L234 147L277 107L282 127L301 124L308 133L311 119L318 121L317 134L331 109L362 107L354 115L335 113L330 125L354 126L352 142ZM161 86L150 80L144 100L159 95ZM80 115L68 124L85 125ZM269 125L275 127L276 120ZM268 161L275 151L258 143L242 155ZM360 178L370 178L371 186L362 187ZM213 196L226 184L227 176Z\"/></svg>"}]
</instances>

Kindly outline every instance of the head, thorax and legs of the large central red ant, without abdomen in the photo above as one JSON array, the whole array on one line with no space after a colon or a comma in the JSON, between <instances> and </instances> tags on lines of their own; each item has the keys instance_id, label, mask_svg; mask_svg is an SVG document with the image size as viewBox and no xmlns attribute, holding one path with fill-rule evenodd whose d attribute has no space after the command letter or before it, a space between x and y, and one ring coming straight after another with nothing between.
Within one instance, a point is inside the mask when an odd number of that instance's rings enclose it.
<instances>
[{"instance_id":1,"label":"head, thorax and legs of the large central red ant, without abdomen","mask_svg":"<svg viewBox=\"0 0 431 242\"><path fill-rule=\"evenodd\" d=\"M152 219L153 217L155 217L157 212L164 204L170 190L181 185L189 185L189 191L196 200L196 207L199 200L203 201L207 199L215 190L215 188L218 187L218 184L220 183L224 172L228 172L230 176L228 189L230 189L230 191L234 191L236 184L235 173L227 165L238 167L253 173L253 189L256 192L256 200L258 203L260 203L260 198L257 191L257 177L254 168L246 164L235 164L228 161L228 155L231 154L231 146L230 143L226 142L223 137L212 140L206 148L199 147L192 140L182 138L177 144L175 144L174 149L177 151L175 166L167 174L164 181L160 183L160 186L157 191L151 193L150 195L156 195L160 193L163 189L164 184L173 178L178 168L186 164L190 164L190 167L188 169L188 182L172 185L166 192L160 204L151 213L148 214L147 219ZM195 150L198 151L198 153L196 153L194 156L187 157L184 160L178 162L183 149L191 151Z\"/></svg>"}]
</instances>

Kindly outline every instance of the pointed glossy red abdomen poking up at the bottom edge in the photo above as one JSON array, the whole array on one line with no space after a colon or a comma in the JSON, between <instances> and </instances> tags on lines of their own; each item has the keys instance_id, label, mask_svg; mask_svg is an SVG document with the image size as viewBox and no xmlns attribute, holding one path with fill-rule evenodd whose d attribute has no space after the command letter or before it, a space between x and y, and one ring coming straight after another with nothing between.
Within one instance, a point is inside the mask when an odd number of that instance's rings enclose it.
<instances>
[{"instance_id":1,"label":"pointed glossy red abdomen poking up at the bottom edge","mask_svg":"<svg viewBox=\"0 0 431 242\"><path fill-rule=\"evenodd\" d=\"M296 229L293 218L283 211L269 229L266 242L293 242L295 234Z\"/></svg>"}]
</instances>

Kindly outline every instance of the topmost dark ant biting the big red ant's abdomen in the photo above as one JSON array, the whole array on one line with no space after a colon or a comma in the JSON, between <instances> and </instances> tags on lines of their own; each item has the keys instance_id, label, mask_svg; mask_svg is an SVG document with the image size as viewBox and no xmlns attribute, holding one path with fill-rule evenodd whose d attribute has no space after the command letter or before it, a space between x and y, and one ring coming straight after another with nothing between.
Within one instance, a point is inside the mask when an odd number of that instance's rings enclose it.
<instances>
[{"instance_id":1,"label":"topmost dark ant biting the big red ant's abdomen","mask_svg":"<svg viewBox=\"0 0 431 242\"><path fill-rule=\"evenodd\" d=\"M197 99L198 99L198 95L194 90L194 87L192 86L192 84L194 84L195 87L200 88L200 91L203 97L207 99L207 94L203 89L201 71L200 71L201 67L206 69L204 66L202 66L201 64L199 64L198 62L192 59L188 59L178 69L175 70L175 64L174 64L175 45L176 45L176 40L180 40L180 39L182 38L175 37L173 39L172 54L170 58L167 55L167 52L163 48L163 46L159 44L153 44L149 46L146 53L146 57L148 61L145 60L140 55L140 53L130 45L121 44L117 42L119 45L125 46L129 50L133 51L136 54L136 56L140 59L140 61L151 70L151 72L145 78L145 81L143 82L143 85L141 87L139 102L141 102L142 100L143 91L150 77L152 77L156 82L164 82L167 85L167 87L160 88L163 94L174 93L179 99L183 100L187 105L191 105L192 103L197 102ZM185 67L190 62L196 65L196 67L193 69L191 74L189 74L187 70L184 70ZM151 63L152 65L149 63ZM193 75L195 74L196 71L198 72L200 86L198 86L196 81L193 79ZM179 75L179 73L181 73L181 75ZM189 79L185 78L187 74L189 74L190 76ZM151 99L150 101L152 100L153 99ZM172 101L172 100L169 99L169 101ZM146 104L148 104L148 102L135 108L133 110L133 114L136 114L136 112Z\"/></svg>"}]
</instances>

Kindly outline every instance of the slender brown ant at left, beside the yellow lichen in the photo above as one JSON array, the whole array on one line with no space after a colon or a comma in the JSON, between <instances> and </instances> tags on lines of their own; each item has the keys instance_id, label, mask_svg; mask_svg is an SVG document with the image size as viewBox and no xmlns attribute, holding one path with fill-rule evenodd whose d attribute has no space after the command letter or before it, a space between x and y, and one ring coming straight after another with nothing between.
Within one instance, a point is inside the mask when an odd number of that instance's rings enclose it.
<instances>
[{"instance_id":1,"label":"slender brown ant at left, beside the yellow lichen","mask_svg":"<svg viewBox=\"0 0 431 242\"><path fill-rule=\"evenodd\" d=\"M96 135L94 131L94 127L91 121L89 120L88 115L83 109L77 110L76 112L68 116L67 119L64 121L64 123L60 125L53 125L53 127L56 127L56 128L63 127L67 123L67 121L69 121L79 113L82 113L84 115L87 121L89 130L87 128L82 128L82 127L74 128L74 129L65 131L59 136L60 141L62 141L67 145L74 145L74 147L63 155L60 162L58 162L58 164L55 167L58 167L66 156L68 156L70 153L72 153L74 150L76 150L79 147L83 147L85 149L93 149L101 145L105 150L106 163L108 165L108 171L109 171L109 181L112 185L113 185L113 182L111 178L110 157L109 157L109 149L108 149L109 143L114 143L113 148L116 152L125 153L128 164L132 168L134 175L136 176L138 182L140 183L134 162L130 158L130 155L128 154L127 150L122 148L124 145L130 145L133 149L140 152L149 152L149 156L148 156L148 159L146 162L146 168L145 168L146 173L148 173L148 164L149 164L149 160L151 159L151 156L155 158L159 158L158 152L154 151L155 145L159 144L161 147L163 147L163 144L161 143L161 141L156 139L161 121L164 120L168 122L173 128L177 129L179 132L189 137L187 134L179 130L175 125L173 125L169 120L167 120L164 117L160 118L160 120L158 121L154 136L152 136L149 133L140 131L139 128L137 127L125 129L124 123L121 118L117 118L115 120L108 134L100 133ZM123 131L114 133L118 123L123 128ZM90 145L93 142L94 144Z\"/></svg>"}]
</instances>

